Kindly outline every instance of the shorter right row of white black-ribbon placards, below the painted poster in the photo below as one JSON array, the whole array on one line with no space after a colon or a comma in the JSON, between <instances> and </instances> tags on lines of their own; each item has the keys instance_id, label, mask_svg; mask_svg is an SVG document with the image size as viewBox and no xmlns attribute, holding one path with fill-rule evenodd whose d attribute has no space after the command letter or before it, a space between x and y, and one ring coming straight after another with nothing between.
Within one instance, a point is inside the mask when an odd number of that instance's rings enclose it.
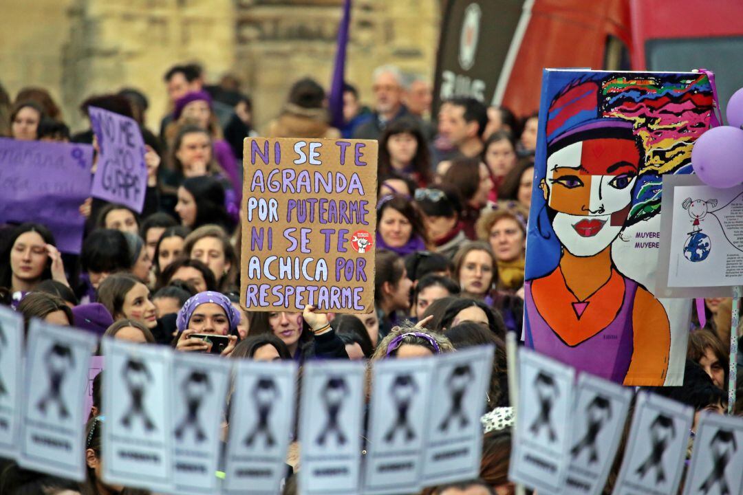
<instances>
[{"instance_id":1,"label":"shorter right row of white black-ribbon placards, below the painted poster","mask_svg":"<svg viewBox=\"0 0 743 495\"><path fill-rule=\"evenodd\" d=\"M539 495L599 495L624 432L634 391L519 349L519 407L509 477ZM614 495L675 495L695 411L645 391ZM743 494L743 418L704 411L684 495Z\"/></svg>"}]
</instances>

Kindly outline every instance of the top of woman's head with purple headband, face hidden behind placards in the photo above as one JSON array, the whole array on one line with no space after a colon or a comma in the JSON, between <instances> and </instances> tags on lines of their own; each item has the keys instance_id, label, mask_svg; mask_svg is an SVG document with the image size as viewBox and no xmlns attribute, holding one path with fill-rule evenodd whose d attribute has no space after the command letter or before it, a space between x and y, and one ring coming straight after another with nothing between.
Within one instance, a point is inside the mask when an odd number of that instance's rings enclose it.
<instances>
[{"instance_id":1,"label":"top of woman's head with purple headband, face hidden behind placards","mask_svg":"<svg viewBox=\"0 0 743 495\"><path fill-rule=\"evenodd\" d=\"M387 358L426 358L452 353L454 346L444 335L418 327L395 327L377 346L371 361Z\"/></svg>"}]
</instances>

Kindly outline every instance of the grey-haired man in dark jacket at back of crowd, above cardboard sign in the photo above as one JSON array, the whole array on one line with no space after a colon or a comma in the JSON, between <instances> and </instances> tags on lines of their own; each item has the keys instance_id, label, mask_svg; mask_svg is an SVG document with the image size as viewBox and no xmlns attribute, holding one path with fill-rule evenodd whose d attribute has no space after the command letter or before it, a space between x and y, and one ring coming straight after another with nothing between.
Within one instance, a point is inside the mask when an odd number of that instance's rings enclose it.
<instances>
[{"instance_id":1,"label":"grey-haired man in dark jacket at back of crowd, above cardboard sign","mask_svg":"<svg viewBox=\"0 0 743 495\"><path fill-rule=\"evenodd\" d=\"M374 114L354 131L354 139L379 140L384 128L393 120L409 116L403 105L403 74L395 65L382 65L374 70Z\"/></svg>"}]
</instances>

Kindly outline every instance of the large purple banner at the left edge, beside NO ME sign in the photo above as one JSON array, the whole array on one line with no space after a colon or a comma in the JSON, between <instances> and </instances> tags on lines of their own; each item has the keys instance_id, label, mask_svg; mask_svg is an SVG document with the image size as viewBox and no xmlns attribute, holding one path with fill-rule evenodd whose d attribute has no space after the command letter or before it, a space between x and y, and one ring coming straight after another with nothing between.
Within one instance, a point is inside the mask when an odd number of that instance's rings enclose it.
<instances>
[{"instance_id":1,"label":"large purple banner at the left edge, beside NO ME sign","mask_svg":"<svg viewBox=\"0 0 743 495\"><path fill-rule=\"evenodd\" d=\"M59 251L79 254L93 147L0 137L0 223L39 222Z\"/></svg>"}]
</instances>

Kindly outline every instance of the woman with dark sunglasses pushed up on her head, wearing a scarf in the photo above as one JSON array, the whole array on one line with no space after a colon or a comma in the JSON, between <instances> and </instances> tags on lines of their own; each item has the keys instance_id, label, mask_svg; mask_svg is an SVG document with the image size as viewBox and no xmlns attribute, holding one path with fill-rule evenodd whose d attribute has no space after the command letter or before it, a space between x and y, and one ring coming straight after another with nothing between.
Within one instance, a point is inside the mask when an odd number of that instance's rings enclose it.
<instances>
[{"instance_id":1,"label":"woman with dark sunglasses pushed up on her head, wearing a scarf","mask_svg":"<svg viewBox=\"0 0 743 495\"><path fill-rule=\"evenodd\" d=\"M462 244L467 243L457 190L444 184L418 189L415 191L415 203L423 212L426 234L436 252L453 258Z\"/></svg>"}]
</instances>

